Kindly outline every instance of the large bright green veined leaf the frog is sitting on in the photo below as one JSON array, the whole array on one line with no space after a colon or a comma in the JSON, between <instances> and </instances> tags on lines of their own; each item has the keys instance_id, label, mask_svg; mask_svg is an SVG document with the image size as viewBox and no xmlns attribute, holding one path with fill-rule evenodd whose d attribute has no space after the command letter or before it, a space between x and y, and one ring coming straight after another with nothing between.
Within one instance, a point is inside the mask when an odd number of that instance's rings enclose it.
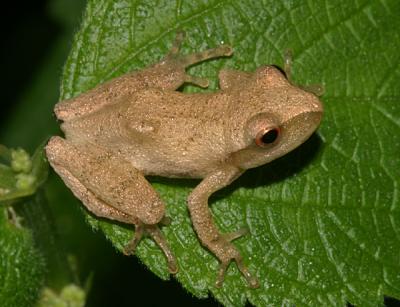
<instances>
[{"instance_id":1,"label":"large bright green veined leaf the frog is sitting on","mask_svg":"<svg viewBox=\"0 0 400 307\"><path fill-rule=\"evenodd\" d=\"M367 306L382 304L383 295L400 298L399 11L396 0L88 2L63 99L157 62L182 29L183 53L221 42L234 48L232 58L190 70L210 78L211 89L222 67L282 66L287 48L296 82L325 86L319 132L210 201L221 231L249 228L235 245L259 289L249 289L235 265L222 289L214 287L218 262L200 245L185 207L197 182L154 182L172 217L163 232L178 259L176 278L188 291L234 306ZM88 220L120 250L132 237L129 225ZM143 240L137 255L169 278L154 242Z\"/></svg>"}]
</instances>

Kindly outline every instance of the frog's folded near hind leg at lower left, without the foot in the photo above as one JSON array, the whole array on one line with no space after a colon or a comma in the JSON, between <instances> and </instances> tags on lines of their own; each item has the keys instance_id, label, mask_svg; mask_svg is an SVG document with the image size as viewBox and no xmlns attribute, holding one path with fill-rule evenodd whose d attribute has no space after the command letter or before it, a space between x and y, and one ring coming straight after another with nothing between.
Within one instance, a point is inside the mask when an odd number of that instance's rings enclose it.
<instances>
[{"instance_id":1,"label":"frog's folded near hind leg at lower left, without the foot","mask_svg":"<svg viewBox=\"0 0 400 307\"><path fill-rule=\"evenodd\" d=\"M128 161L100 148L53 137L50 164L94 214L122 222L156 224L165 208L156 191Z\"/></svg>"}]
</instances>

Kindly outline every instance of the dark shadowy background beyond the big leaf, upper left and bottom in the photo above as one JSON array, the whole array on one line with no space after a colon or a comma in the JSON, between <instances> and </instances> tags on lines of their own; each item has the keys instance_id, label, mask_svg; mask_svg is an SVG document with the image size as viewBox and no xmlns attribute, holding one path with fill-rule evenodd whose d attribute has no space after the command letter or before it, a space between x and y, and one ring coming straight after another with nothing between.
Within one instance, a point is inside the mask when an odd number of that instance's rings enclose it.
<instances>
[{"instance_id":1,"label":"dark shadowy background beyond the big leaf, upper left and bottom","mask_svg":"<svg viewBox=\"0 0 400 307\"><path fill-rule=\"evenodd\" d=\"M49 134L58 133L52 106L84 0L10 1L0 18L0 143L33 151ZM34 129L32 129L34 127ZM50 131L49 128L51 127ZM70 192L52 174L49 184L64 197L62 206L50 201L61 250L76 257L78 282L93 273L87 306L218 306L212 298L199 300L174 279L162 281L135 257L117 253L111 243L92 232ZM50 200L52 199L50 195ZM57 274L50 272L51 280ZM65 281L65 277L59 279ZM73 279L73 278L72 278ZM57 285L55 286L57 288ZM398 301L386 299L387 306Z\"/></svg>"}]
</instances>

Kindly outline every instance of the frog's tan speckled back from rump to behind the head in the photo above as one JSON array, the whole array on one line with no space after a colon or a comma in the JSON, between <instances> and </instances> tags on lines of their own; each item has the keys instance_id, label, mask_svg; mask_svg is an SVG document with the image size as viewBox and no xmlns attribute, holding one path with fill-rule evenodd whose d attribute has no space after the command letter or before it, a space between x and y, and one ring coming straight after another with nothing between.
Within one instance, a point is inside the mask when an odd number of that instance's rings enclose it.
<instances>
[{"instance_id":1,"label":"frog's tan speckled back from rump to behind the head","mask_svg":"<svg viewBox=\"0 0 400 307\"><path fill-rule=\"evenodd\" d=\"M145 175L201 178L226 153L226 101L216 95L146 89L62 128L68 139L122 155Z\"/></svg>"}]
</instances>

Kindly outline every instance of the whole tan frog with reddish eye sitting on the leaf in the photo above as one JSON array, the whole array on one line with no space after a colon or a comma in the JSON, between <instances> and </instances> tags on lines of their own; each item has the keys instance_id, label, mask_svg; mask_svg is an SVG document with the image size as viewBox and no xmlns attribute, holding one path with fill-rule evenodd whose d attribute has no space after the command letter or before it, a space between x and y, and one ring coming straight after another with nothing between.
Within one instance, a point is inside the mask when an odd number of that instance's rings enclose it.
<instances>
[{"instance_id":1,"label":"whole tan frog with reddish eye sitting on the leaf","mask_svg":"<svg viewBox=\"0 0 400 307\"><path fill-rule=\"evenodd\" d=\"M58 103L55 114L63 121L65 139L52 137L47 157L89 211L135 225L126 253L148 234L163 250L171 273L177 272L176 260L159 229L165 205L145 176L201 178L187 205L200 241L220 261L216 285L235 261L248 284L257 287L231 243L244 231L221 234L208 198L245 170L306 141L321 121L322 105L273 66L254 73L224 69L220 91L181 93L183 83L208 85L187 75L188 66L232 53L221 45L181 55L182 39L178 34L161 62Z\"/></svg>"}]
</instances>

